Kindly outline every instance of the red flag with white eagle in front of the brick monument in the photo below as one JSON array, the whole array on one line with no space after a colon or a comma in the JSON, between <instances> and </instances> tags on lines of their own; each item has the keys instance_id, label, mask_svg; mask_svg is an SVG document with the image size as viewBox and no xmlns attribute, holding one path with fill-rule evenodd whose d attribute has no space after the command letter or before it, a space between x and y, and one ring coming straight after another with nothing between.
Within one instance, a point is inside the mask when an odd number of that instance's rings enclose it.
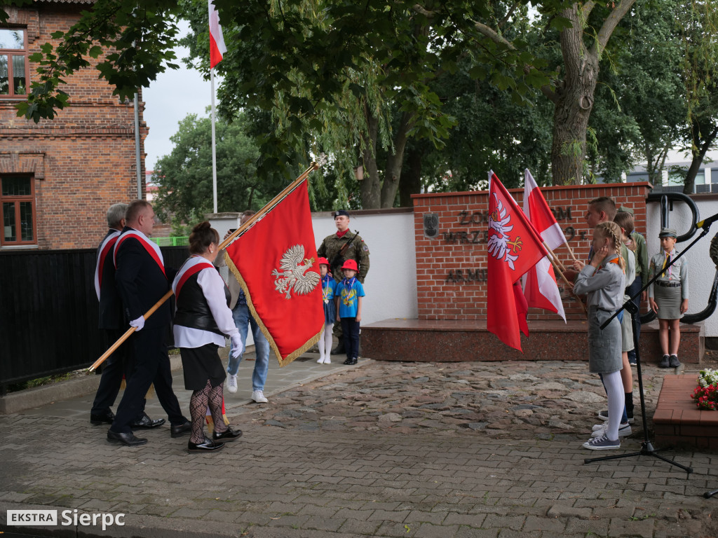
<instances>
[{"instance_id":1,"label":"red flag with white eagle in front of the brick monument","mask_svg":"<svg viewBox=\"0 0 718 538\"><path fill-rule=\"evenodd\" d=\"M489 174L486 328L521 351L520 331L528 336L528 308L518 279L544 258L546 249L496 174Z\"/></svg>"}]
</instances>

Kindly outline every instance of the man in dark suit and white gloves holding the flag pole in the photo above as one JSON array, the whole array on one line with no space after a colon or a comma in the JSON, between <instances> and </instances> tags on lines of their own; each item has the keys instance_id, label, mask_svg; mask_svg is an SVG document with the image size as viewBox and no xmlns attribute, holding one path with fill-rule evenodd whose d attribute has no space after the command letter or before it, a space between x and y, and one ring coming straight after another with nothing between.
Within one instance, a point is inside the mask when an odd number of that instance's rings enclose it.
<instances>
[{"instance_id":1,"label":"man in dark suit and white gloves holding the flag pole","mask_svg":"<svg viewBox=\"0 0 718 538\"><path fill-rule=\"evenodd\" d=\"M134 367L127 379L117 415L107 432L112 443L144 445L146 439L136 438L132 423L144 405L144 395L154 383L154 391L171 423L172 437L189 433L192 424L182 415L177 396L172 392L165 338L169 331L169 301L144 319L144 313L169 291L174 275L168 275L159 247L148 237L154 227L154 210L149 202L136 200L127 208L126 226L115 243L115 282L129 324L135 332L129 338Z\"/></svg>"}]
</instances>

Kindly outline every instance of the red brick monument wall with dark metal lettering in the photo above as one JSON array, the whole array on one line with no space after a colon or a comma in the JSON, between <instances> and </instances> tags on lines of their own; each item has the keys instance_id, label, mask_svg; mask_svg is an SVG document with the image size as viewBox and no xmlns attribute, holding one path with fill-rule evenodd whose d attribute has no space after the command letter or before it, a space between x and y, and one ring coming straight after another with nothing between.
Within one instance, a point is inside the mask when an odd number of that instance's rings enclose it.
<instances>
[{"instance_id":1,"label":"red brick monument wall with dark metal lettering","mask_svg":"<svg viewBox=\"0 0 718 538\"><path fill-rule=\"evenodd\" d=\"M636 231L645 235L645 198L648 183L601 184L574 187L542 187L546 202L579 260L585 260L591 240L584 215L589 200L609 196L617 206L632 207ZM523 189L510 189L519 207ZM416 194L414 237L416 241L416 292L419 319L486 319L486 268L488 192ZM424 232L424 215L438 217L437 232ZM556 256L570 265L568 247ZM559 282L564 309L569 319L585 319L578 303L570 298L567 286ZM531 308L529 319L556 319L558 316Z\"/></svg>"}]
</instances>

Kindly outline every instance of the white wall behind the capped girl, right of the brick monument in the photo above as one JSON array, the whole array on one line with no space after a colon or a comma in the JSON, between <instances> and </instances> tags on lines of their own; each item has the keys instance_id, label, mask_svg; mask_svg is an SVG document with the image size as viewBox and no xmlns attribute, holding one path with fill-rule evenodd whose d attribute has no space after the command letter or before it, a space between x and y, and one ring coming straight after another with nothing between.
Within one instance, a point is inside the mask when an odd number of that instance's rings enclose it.
<instances>
[{"instance_id":1,"label":"white wall behind the capped girl, right of the brick monument","mask_svg":"<svg viewBox=\"0 0 718 538\"><path fill-rule=\"evenodd\" d=\"M711 217L718 213L718 200L699 200L696 201L699 211L699 219ZM645 237L646 245L648 245L648 256L661 252L661 244L658 242L658 232L661 231L661 204L659 202L649 202L646 204L648 230ZM668 225L675 228L679 235L688 232L691 226L691 210L682 203L673 204L673 211L668 214ZM643 231L643 230L639 230ZM708 255L708 247L714 235L718 232L718 223L714 223L708 235L703 237L686 253L688 258L688 279L689 279L689 298L688 313L696 313L703 310L708 303L708 294L713 285L713 279L716 273L716 266ZM676 244L676 250L682 251L691 244L701 233L688 241ZM718 336L718 311L704 321L706 336Z\"/></svg>"}]
</instances>

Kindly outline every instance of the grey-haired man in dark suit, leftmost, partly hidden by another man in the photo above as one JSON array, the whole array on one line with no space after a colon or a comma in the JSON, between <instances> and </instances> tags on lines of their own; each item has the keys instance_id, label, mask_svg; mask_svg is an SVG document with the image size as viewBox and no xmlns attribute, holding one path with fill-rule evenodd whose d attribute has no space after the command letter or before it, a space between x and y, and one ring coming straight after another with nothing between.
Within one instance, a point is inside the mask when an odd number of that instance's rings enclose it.
<instances>
[{"instance_id":1,"label":"grey-haired man in dark suit, leftmost, partly hidden by another man","mask_svg":"<svg viewBox=\"0 0 718 538\"><path fill-rule=\"evenodd\" d=\"M108 346L117 341L127 330L127 322L122 311L122 301L115 285L115 265L113 263L113 249L125 226L127 207L127 204L113 204L107 210L109 230L97 250L95 293L97 293L98 301L100 301L98 325L107 336ZM120 392L122 377L129 377L131 372L132 364L129 345L123 344L102 364L100 384L92 410L90 410L90 423L92 425L113 423L115 415L110 410L110 407L115 404L118 392ZM132 424L132 428L157 428L162 424L164 424L164 419L151 420L145 414L143 405Z\"/></svg>"}]
</instances>

